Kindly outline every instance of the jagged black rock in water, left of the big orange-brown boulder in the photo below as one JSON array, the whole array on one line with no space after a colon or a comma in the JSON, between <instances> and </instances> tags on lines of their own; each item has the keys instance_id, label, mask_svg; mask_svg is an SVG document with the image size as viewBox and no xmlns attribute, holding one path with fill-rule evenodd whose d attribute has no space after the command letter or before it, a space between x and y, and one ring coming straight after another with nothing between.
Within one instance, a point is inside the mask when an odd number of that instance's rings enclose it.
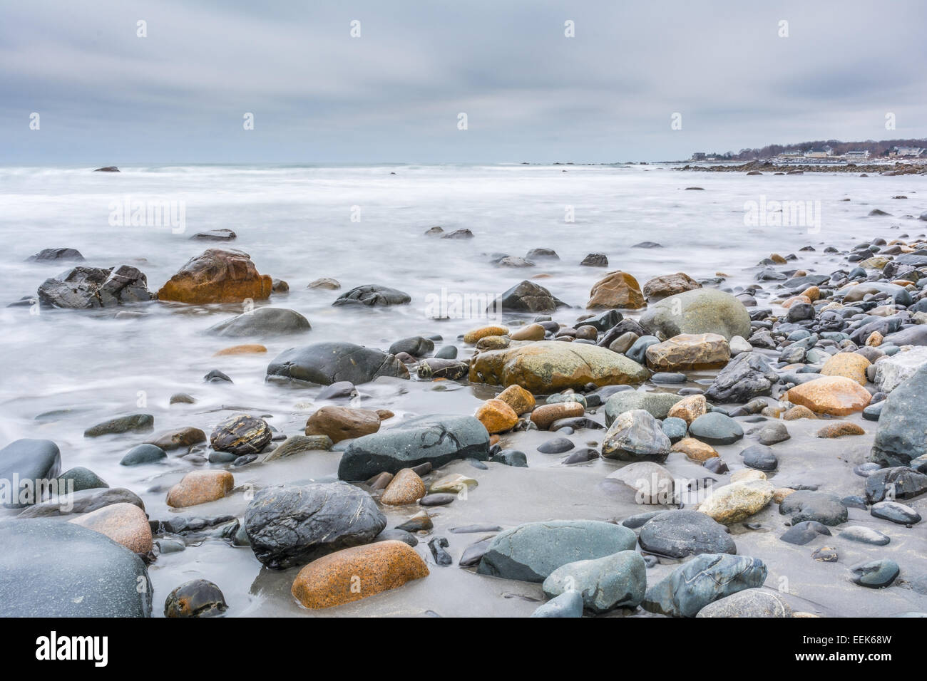
<instances>
[{"instance_id":1,"label":"jagged black rock in water, left of the big orange-brown boulder","mask_svg":"<svg viewBox=\"0 0 927 681\"><path fill-rule=\"evenodd\" d=\"M40 304L53 308L112 308L154 298L148 280L130 265L116 268L79 265L39 286Z\"/></svg>"}]
</instances>

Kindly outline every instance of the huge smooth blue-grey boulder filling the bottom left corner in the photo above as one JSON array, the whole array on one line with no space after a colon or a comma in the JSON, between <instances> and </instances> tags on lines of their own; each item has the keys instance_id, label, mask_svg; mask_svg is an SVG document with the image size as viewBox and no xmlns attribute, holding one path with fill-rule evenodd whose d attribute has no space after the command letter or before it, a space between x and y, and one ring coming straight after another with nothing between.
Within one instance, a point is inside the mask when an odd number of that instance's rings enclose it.
<instances>
[{"instance_id":1,"label":"huge smooth blue-grey boulder filling the bottom left corner","mask_svg":"<svg viewBox=\"0 0 927 681\"><path fill-rule=\"evenodd\" d=\"M74 523L0 523L0 617L149 617L145 563Z\"/></svg>"}]
</instances>

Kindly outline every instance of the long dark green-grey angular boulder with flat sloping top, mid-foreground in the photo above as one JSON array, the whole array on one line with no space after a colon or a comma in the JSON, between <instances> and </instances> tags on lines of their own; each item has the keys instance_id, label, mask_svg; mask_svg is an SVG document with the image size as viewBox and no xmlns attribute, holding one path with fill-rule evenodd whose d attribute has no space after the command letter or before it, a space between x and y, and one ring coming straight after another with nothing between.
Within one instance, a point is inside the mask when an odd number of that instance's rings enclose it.
<instances>
[{"instance_id":1,"label":"long dark green-grey angular boulder with flat sloping top, mid-foreground","mask_svg":"<svg viewBox=\"0 0 927 681\"><path fill-rule=\"evenodd\" d=\"M489 433L473 416L419 416L351 441L338 464L341 480L366 480L431 463L489 459Z\"/></svg>"}]
</instances>

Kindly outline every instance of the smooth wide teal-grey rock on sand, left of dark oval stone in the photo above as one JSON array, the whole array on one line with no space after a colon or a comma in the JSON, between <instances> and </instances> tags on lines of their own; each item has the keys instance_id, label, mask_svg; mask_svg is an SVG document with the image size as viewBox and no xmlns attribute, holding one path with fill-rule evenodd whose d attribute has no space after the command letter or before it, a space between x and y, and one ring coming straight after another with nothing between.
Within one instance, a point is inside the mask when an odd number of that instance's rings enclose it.
<instances>
[{"instance_id":1,"label":"smooth wide teal-grey rock on sand, left of dark oval stone","mask_svg":"<svg viewBox=\"0 0 927 681\"><path fill-rule=\"evenodd\" d=\"M495 537L477 574L543 582L568 562L590 561L634 549L637 537L627 527L600 521L525 523Z\"/></svg>"}]
</instances>

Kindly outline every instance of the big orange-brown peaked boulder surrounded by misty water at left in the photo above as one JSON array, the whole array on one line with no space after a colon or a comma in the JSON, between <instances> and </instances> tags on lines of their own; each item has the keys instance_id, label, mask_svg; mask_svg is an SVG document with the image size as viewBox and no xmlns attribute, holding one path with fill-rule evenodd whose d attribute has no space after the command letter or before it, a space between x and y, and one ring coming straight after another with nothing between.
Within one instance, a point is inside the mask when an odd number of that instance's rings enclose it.
<instances>
[{"instance_id":1,"label":"big orange-brown peaked boulder surrounded by misty water at left","mask_svg":"<svg viewBox=\"0 0 927 681\"><path fill-rule=\"evenodd\" d=\"M273 280L259 274L251 257L239 250L210 248L187 260L158 291L159 300L179 303L241 303L266 300Z\"/></svg>"}]
</instances>

